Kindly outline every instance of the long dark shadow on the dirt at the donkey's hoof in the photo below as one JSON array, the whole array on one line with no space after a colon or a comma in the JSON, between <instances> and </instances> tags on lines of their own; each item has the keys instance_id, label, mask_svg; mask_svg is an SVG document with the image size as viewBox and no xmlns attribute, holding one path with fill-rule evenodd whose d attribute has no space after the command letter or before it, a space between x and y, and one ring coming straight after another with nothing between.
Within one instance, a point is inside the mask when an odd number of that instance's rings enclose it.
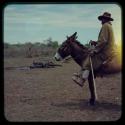
<instances>
[{"instance_id":1,"label":"long dark shadow on the dirt at the donkey's hoof","mask_svg":"<svg viewBox=\"0 0 125 125\"><path fill-rule=\"evenodd\" d=\"M76 110L113 110L113 111L121 111L121 105L113 104L109 102L96 102L94 106L89 105L88 100L80 99L73 100L65 103L53 103L52 106L62 107L66 109L76 109Z\"/></svg>"}]
</instances>

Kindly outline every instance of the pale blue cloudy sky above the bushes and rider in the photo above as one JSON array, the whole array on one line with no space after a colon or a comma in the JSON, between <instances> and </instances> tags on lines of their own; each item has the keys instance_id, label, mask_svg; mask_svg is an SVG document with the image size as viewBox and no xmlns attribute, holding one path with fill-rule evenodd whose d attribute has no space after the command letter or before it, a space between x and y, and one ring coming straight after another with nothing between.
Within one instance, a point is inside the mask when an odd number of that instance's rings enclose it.
<instances>
[{"instance_id":1,"label":"pale blue cloudy sky above the bushes and rider","mask_svg":"<svg viewBox=\"0 0 125 125\"><path fill-rule=\"evenodd\" d=\"M78 41L97 40L101 28L98 16L109 12L116 43L122 41L122 8L114 4L8 4L4 8L4 42L43 42L48 38L60 44L77 32Z\"/></svg>"}]
</instances>

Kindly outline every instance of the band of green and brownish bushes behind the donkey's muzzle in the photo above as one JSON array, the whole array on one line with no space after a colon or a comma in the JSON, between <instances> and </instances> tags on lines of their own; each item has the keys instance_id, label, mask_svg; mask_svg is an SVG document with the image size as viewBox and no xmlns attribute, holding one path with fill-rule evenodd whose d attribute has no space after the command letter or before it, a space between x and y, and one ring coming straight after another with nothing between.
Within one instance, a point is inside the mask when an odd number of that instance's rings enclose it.
<instances>
[{"instance_id":1,"label":"band of green and brownish bushes behind the donkey's muzzle","mask_svg":"<svg viewBox=\"0 0 125 125\"><path fill-rule=\"evenodd\" d=\"M53 56L56 52L58 42L52 42L50 46L44 43L8 44L4 43L4 57L41 57Z\"/></svg>"}]
</instances>

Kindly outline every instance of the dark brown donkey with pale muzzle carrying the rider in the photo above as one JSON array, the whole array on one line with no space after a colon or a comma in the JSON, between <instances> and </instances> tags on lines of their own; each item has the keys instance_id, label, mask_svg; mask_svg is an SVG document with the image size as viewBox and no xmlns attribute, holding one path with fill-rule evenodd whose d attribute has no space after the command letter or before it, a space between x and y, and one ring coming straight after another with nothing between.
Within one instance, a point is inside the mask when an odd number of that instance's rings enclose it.
<instances>
[{"instance_id":1,"label":"dark brown donkey with pale muzzle carrying the rider","mask_svg":"<svg viewBox=\"0 0 125 125\"><path fill-rule=\"evenodd\" d=\"M86 55L89 53L89 48L82 45L79 41L77 41L77 32L75 32L73 35L70 37L67 36L67 39L62 43L62 45L58 48L56 54L55 54L55 59L56 61L61 61L68 57L69 55L74 59L74 61L82 67L82 62L84 61ZM115 62L115 61L113 61ZM96 76L103 76L104 74L112 74L112 73L118 73L121 71L119 67L116 68L115 65L108 63L104 63L100 67L99 70L94 71L94 77ZM107 68L106 68L107 67ZM93 76L92 76L92 71L89 73L88 77L88 83L89 83L89 89L90 89L90 100L89 103L90 105L95 105L95 101L97 100L96 96L96 89L94 86L94 81L93 81Z\"/></svg>"}]
</instances>

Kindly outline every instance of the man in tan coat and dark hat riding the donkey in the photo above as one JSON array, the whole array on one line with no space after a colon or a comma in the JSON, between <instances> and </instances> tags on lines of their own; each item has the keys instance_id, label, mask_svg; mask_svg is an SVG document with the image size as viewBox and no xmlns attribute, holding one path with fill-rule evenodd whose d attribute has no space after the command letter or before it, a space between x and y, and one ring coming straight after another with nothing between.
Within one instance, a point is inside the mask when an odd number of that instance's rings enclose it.
<instances>
[{"instance_id":1,"label":"man in tan coat and dark hat riding the donkey","mask_svg":"<svg viewBox=\"0 0 125 125\"><path fill-rule=\"evenodd\" d=\"M107 60L111 59L115 52L116 46L111 24L111 21L113 21L111 14L104 12L103 15L98 17L98 19L102 23L98 41L90 41L91 45L96 44L96 46L94 48L89 48L89 54L87 54L85 60L83 61L80 74L74 73L74 76L72 77L73 81L75 81L81 87L88 79L91 70L90 58L93 64L93 70L95 71L99 69L103 63L106 63Z\"/></svg>"}]
</instances>

